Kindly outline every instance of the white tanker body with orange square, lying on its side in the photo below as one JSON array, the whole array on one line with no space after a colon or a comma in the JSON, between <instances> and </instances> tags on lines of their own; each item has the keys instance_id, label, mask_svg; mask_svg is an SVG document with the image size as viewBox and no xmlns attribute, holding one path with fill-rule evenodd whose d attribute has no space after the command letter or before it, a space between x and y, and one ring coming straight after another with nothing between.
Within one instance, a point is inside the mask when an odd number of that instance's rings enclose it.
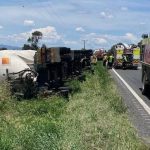
<instances>
[{"instance_id":1,"label":"white tanker body with orange square, lying on its side","mask_svg":"<svg viewBox=\"0 0 150 150\"><path fill-rule=\"evenodd\" d=\"M0 81L7 78L8 73L32 69L34 65L34 50L2 50L0 51ZM18 74L13 75L17 78Z\"/></svg>"}]
</instances>

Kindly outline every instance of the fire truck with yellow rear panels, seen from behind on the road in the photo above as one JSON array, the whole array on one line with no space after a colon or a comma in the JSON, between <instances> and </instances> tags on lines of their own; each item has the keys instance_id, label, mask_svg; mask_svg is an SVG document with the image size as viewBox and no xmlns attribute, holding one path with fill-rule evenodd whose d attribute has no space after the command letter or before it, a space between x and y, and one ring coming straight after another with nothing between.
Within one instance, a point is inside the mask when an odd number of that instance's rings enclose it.
<instances>
[{"instance_id":1,"label":"fire truck with yellow rear panels, seen from behind on the road","mask_svg":"<svg viewBox=\"0 0 150 150\"><path fill-rule=\"evenodd\" d=\"M123 60L126 57L126 62ZM125 63L125 65L123 64ZM137 45L116 44L114 50L114 68L137 69L140 63L140 47Z\"/></svg>"}]
</instances>

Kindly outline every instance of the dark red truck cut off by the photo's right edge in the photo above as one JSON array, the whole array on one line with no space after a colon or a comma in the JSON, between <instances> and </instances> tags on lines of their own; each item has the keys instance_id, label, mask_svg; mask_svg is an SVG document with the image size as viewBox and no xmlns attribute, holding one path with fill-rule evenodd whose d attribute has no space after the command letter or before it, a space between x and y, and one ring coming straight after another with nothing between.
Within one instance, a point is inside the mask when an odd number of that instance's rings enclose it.
<instances>
[{"instance_id":1,"label":"dark red truck cut off by the photo's right edge","mask_svg":"<svg viewBox=\"0 0 150 150\"><path fill-rule=\"evenodd\" d=\"M142 37L142 94L147 94L150 89L150 37L146 34Z\"/></svg>"}]
</instances>

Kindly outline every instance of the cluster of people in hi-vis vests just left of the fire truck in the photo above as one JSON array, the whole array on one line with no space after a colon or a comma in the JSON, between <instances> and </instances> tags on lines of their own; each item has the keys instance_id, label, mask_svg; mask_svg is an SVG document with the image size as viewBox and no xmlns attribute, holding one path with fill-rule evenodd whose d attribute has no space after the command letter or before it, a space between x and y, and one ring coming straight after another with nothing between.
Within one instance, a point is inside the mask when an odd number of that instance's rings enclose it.
<instances>
[{"instance_id":1,"label":"cluster of people in hi-vis vests just left of the fire truck","mask_svg":"<svg viewBox=\"0 0 150 150\"><path fill-rule=\"evenodd\" d=\"M108 69L112 69L114 63L114 56L113 54L104 54L103 57L103 66L107 67Z\"/></svg>"}]
</instances>

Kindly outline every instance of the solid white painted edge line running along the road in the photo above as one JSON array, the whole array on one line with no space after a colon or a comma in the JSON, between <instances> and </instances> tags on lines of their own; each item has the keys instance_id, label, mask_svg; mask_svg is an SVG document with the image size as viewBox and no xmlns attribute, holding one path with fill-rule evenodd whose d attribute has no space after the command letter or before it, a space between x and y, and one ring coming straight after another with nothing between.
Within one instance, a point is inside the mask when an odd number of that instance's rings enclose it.
<instances>
[{"instance_id":1,"label":"solid white painted edge line running along the road","mask_svg":"<svg viewBox=\"0 0 150 150\"><path fill-rule=\"evenodd\" d=\"M133 94L133 96L138 100L138 102L143 106L143 108L147 111L150 115L150 107L138 96L138 94L131 88L131 86L115 71L112 69L114 73L119 77L119 79L125 84L128 90Z\"/></svg>"}]
</instances>

